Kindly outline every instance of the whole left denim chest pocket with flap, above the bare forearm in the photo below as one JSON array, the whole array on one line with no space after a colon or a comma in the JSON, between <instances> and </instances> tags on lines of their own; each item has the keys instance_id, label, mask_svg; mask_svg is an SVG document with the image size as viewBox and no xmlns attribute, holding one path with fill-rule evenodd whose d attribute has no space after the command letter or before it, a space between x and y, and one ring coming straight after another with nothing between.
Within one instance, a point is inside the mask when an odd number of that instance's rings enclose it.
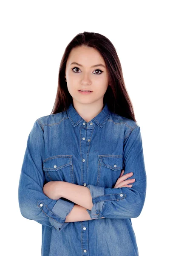
<instances>
[{"instance_id":1,"label":"whole left denim chest pocket with flap, above the bare forearm","mask_svg":"<svg viewBox=\"0 0 170 256\"><path fill-rule=\"evenodd\" d=\"M43 160L43 170L47 181L74 183L73 156L57 155Z\"/></svg>"}]
</instances>

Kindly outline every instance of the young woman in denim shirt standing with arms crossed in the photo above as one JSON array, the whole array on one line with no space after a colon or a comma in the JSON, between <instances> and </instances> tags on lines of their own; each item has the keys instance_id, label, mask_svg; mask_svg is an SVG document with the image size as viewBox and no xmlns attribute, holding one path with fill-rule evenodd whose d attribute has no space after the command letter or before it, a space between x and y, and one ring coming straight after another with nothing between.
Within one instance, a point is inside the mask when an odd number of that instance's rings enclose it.
<instances>
[{"instance_id":1,"label":"young woman in denim shirt standing with arms crossed","mask_svg":"<svg viewBox=\"0 0 170 256\"><path fill-rule=\"evenodd\" d=\"M140 127L116 49L79 33L59 67L54 108L28 136L23 217L42 224L42 256L138 256L131 218L146 196Z\"/></svg>"}]
</instances>

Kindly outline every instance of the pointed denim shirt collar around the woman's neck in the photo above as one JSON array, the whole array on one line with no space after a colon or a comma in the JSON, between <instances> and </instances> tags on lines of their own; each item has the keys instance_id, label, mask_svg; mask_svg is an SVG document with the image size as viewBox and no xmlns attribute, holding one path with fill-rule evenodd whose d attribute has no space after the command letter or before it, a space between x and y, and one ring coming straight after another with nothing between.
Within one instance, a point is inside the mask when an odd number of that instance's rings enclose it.
<instances>
[{"instance_id":1,"label":"pointed denim shirt collar around the woman's neck","mask_svg":"<svg viewBox=\"0 0 170 256\"><path fill-rule=\"evenodd\" d=\"M98 125L99 127L103 127L103 125L105 124L105 122L108 120L109 116L110 116L110 111L108 108L108 104L105 103L104 108L102 109L102 111L95 116L93 119L91 119L90 122L86 122L80 115L79 113L77 113L77 111L75 110L75 108L73 107L72 103L70 103L68 110L67 110L67 115L68 118L70 119L72 125L75 127L77 125L79 125L79 123L81 122L85 122L85 124L87 124L88 127L91 127L90 123L91 122L95 122L96 125Z\"/></svg>"}]
</instances>

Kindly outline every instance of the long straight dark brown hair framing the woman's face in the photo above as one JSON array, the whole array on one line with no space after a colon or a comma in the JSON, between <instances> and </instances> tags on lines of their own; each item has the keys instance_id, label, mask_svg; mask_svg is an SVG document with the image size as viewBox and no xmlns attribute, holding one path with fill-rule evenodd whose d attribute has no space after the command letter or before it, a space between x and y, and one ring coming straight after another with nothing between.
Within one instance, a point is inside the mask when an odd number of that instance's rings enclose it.
<instances>
[{"instance_id":1,"label":"long straight dark brown hair framing the woman's face","mask_svg":"<svg viewBox=\"0 0 170 256\"><path fill-rule=\"evenodd\" d=\"M108 38L94 32L77 34L66 47L59 67L57 95L51 114L65 111L70 103L73 104L72 96L65 81L65 68L71 50L79 46L95 48L105 60L110 86L108 86L103 98L104 105L107 102L110 111L136 122L133 105L125 87L122 67L116 49Z\"/></svg>"}]
</instances>

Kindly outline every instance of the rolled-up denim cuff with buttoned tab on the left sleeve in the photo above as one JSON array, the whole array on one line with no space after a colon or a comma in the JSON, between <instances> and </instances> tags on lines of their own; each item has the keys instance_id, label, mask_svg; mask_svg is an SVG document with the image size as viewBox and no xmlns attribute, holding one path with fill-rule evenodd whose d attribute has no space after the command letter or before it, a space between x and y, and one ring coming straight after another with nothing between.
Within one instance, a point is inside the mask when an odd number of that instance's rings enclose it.
<instances>
[{"instance_id":1,"label":"rolled-up denim cuff with buttoned tab on the left sleeve","mask_svg":"<svg viewBox=\"0 0 170 256\"><path fill-rule=\"evenodd\" d=\"M61 231L69 224L69 222L65 222L65 219L73 209L74 202L59 198L51 210L48 209L48 207L41 201L39 201L39 206L41 207L42 211L45 212L48 217L50 217L49 221L51 225L58 231Z\"/></svg>"}]
</instances>

